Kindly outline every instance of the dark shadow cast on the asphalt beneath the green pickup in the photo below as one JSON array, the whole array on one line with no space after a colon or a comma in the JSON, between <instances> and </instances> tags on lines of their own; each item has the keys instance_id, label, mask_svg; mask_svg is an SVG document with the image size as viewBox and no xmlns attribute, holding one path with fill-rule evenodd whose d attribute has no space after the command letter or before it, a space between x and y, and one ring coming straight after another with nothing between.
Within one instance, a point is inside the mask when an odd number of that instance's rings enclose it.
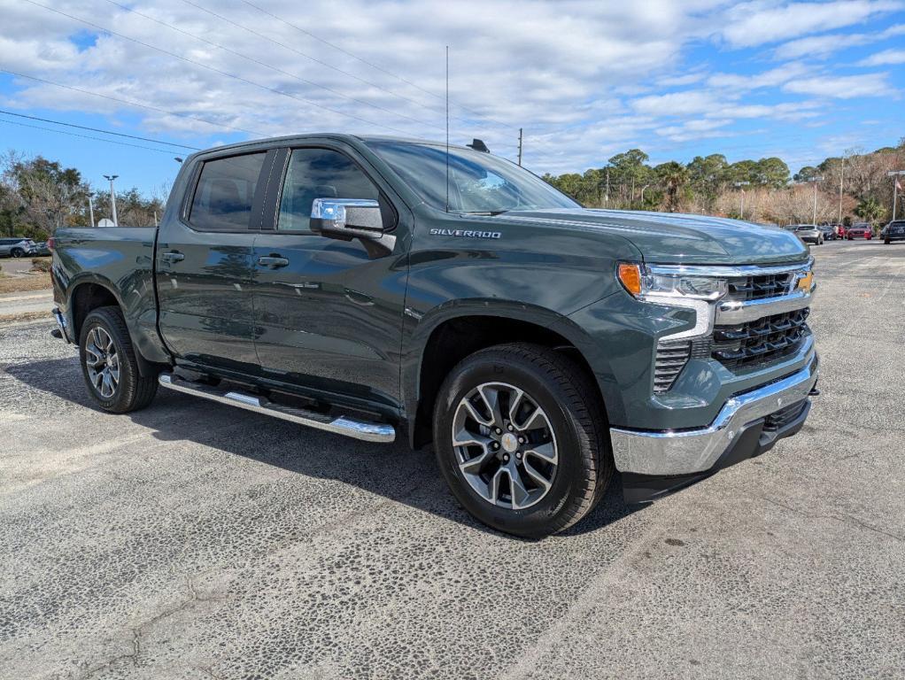
<instances>
[{"instance_id":1,"label":"dark shadow cast on the asphalt beneath the green pickup","mask_svg":"<svg viewBox=\"0 0 905 680\"><path fill-rule=\"evenodd\" d=\"M5 373L30 388L105 417L129 417L133 423L148 428L150 436L160 442L191 442L294 474L349 484L473 529L497 533L476 522L459 506L446 488L429 448L413 451L405 441L394 445L359 442L167 389L160 389L151 406L144 410L112 416L89 396L76 359L15 364L7 366ZM140 446L136 449L138 452ZM640 507L624 503L621 480L615 474L595 510L562 535L593 532Z\"/></svg>"}]
</instances>

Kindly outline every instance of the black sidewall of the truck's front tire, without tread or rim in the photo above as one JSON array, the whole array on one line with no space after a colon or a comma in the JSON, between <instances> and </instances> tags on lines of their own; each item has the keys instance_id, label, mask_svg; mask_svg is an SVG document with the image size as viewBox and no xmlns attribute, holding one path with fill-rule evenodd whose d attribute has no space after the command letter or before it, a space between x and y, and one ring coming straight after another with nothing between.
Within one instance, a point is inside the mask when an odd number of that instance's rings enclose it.
<instances>
[{"instance_id":1,"label":"black sidewall of the truck's front tire, without tread or rim","mask_svg":"<svg viewBox=\"0 0 905 680\"><path fill-rule=\"evenodd\" d=\"M508 383L525 392L547 414L557 442L557 472L553 486L538 503L524 510L491 505L472 490L459 469L452 447L452 418L466 394L483 383ZM557 385L542 378L537 369L519 360L475 357L453 369L438 397L434 410L434 450L437 464L453 495L468 512L502 532L524 536L549 533L557 519L569 512L569 500L578 493L576 485L586 484L586 459L590 443L574 417L563 407ZM584 440L584 441L583 441Z\"/></svg>"}]
</instances>

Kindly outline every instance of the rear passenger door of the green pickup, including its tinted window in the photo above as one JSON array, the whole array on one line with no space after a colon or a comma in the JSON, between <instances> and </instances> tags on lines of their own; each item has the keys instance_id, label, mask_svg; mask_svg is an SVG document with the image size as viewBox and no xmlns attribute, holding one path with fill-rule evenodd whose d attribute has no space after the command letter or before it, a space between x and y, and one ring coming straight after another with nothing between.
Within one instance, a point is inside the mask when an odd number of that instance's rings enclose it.
<instances>
[{"instance_id":1,"label":"rear passenger door of the green pickup, including its tinted window","mask_svg":"<svg viewBox=\"0 0 905 680\"><path fill-rule=\"evenodd\" d=\"M160 332L183 361L256 373L252 244L276 152L205 157L157 240Z\"/></svg>"}]
</instances>

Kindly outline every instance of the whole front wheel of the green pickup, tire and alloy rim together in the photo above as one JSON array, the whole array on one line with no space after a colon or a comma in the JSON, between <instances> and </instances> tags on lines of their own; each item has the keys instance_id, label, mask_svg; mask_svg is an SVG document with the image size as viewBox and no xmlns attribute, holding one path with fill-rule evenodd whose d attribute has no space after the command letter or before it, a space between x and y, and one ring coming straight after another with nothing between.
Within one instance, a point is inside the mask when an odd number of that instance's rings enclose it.
<instances>
[{"instance_id":1,"label":"whole front wheel of the green pickup, tire and alloy rim together","mask_svg":"<svg viewBox=\"0 0 905 680\"><path fill-rule=\"evenodd\" d=\"M468 512L529 538L578 522L614 468L604 407L585 372L523 343L478 351L452 369L434 407L433 443Z\"/></svg>"}]
</instances>

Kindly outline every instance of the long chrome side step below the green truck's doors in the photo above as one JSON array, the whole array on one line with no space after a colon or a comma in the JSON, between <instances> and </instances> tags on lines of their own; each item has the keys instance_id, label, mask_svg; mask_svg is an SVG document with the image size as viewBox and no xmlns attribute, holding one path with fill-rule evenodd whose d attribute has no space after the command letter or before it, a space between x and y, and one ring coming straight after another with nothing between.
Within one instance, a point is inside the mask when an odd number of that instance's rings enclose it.
<instances>
[{"instance_id":1,"label":"long chrome side step below the green truck's doors","mask_svg":"<svg viewBox=\"0 0 905 680\"><path fill-rule=\"evenodd\" d=\"M255 413L262 413L265 416L281 418L291 423L314 427L315 429L332 432L337 435L350 436L353 439L360 439L365 442L390 444L395 441L395 428L386 423L370 423L363 420L353 420L346 416L332 417L304 408L287 407L275 404L266 397L243 394L243 392L225 391L210 385L191 382L172 373L161 373L157 378L157 382L160 383L161 387L175 389L177 392L185 392L186 394L195 395L195 397L203 397L211 401L218 401L221 404L244 408Z\"/></svg>"}]
</instances>

